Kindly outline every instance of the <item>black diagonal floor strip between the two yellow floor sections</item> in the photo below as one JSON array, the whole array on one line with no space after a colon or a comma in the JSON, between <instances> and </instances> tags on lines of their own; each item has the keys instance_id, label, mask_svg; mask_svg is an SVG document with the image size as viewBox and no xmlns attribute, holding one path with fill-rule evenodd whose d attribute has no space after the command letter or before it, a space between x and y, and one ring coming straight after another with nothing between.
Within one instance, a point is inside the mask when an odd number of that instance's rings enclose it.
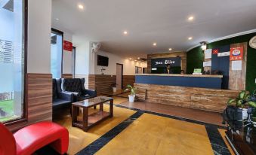
<instances>
[{"instance_id":1,"label":"black diagonal floor strip between the two yellow floor sections","mask_svg":"<svg viewBox=\"0 0 256 155\"><path fill-rule=\"evenodd\" d=\"M140 117L142 114L143 114L142 111L137 111L135 114L131 115L131 117L128 117L128 119L124 120L122 123L119 123L119 125L115 126L113 129L110 129L109 132L106 132L100 138L97 138L96 141L92 142L87 147L80 150L78 153L76 153L76 155L82 155L82 154L91 154L92 155L92 154L96 153L105 144L107 144L109 141L111 141L113 138L115 138L116 135L119 135L120 132L122 132L131 123L133 123L134 120L137 120L137 118Z\"/></svg>"}]
</instances>

